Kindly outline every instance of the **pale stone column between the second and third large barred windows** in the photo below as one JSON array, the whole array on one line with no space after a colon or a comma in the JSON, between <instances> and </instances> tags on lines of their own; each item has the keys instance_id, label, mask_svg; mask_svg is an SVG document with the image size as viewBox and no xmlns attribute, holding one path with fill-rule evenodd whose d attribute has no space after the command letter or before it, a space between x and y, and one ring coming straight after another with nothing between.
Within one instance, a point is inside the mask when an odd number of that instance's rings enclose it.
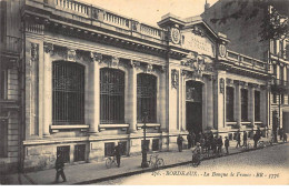
<instances>
[{"instance_id":1,"label":"pale stone column between the second and third large barred windows","mask_svg":"<svg viewBox=\"0 0 289 192\"><path fill-rule=\"evenodd\" d=\"M137 132L137 123L138 123L138 111L137 111L137 81L138 81L138 74L137 74L137 68L140 65L140 62L138 61L130 61L131 70L129 72L129 132L133 133Z\"/></svg>"}]
</instances>

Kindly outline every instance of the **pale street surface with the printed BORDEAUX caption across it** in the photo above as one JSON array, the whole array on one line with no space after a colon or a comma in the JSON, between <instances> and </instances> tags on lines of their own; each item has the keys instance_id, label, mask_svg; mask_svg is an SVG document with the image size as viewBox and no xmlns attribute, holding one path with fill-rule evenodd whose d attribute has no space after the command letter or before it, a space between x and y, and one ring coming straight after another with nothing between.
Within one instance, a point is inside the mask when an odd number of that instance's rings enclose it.
<instances>
[{"instance_id":1,"label":"pale street surface with the printed BORDEAUX caption across it","mask_svg":"<svg viewBox=\"0 0 289 192\"><path fill-rule=\"evenodd\" d=\"M287 143L96 184L289 184L288 152Z\"/></svg>"}]
</instances>

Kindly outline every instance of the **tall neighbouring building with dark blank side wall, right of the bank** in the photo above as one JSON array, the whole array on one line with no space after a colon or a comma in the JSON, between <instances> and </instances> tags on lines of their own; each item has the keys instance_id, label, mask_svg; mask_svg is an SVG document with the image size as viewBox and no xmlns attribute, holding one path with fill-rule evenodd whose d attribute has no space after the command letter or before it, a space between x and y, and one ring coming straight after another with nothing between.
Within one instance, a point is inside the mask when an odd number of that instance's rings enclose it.
<instances>
[{"instance_id":1,"label":"tall neighbouring building with dark blank side wall, right of the bank","mask_svg":"<svg viewBox=\"0 0 289 192\"><path fill-rule=\"evenodd\" d=\"M286 17L288 22L289 1L270 2L271 6L265 6L266 1L219 0L212 7L207 6L202 18L213 30L228 34L231 40L228 49L269 64L272 81L268 127L283 128L289 132L289 39L265 40L261 36L266 22L278 21L280 16ZM239 11L243 17L238 18Z\"/></svg>"}]
</instances>

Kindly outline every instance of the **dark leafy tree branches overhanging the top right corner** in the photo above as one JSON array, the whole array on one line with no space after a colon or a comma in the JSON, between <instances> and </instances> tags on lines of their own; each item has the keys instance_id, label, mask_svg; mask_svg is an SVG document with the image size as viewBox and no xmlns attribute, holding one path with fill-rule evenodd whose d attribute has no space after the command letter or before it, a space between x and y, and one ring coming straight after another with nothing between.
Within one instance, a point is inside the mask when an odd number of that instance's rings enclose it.
<instances>
[{"instance_id":1,"label":"dark leafy tree branches overhanging the top right corner","mask_svg":"<svg viewBox=\"0 0 289 192\"><path fill-rule=\"evenodd\" d=\"M228 0L225 2L225 9L230 9L233 6L238 9L221 18L211 18L210 21L225 24L229 19L249 20L266 11L259 32L261 41L289 38L288 0Z\"/></svg>"}]
</instances>

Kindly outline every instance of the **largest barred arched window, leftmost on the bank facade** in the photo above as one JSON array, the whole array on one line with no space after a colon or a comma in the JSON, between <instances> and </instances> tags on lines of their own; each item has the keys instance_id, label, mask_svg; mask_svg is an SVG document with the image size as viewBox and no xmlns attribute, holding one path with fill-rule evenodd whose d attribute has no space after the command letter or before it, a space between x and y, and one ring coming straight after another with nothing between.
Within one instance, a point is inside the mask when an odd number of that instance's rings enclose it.
<instances>
[{"instance_id":1,"label":"largest barred arched window, leftmost on the bank facade","mask_svg":"<svg viewBox=\"0 0 289 192\"><path fill-rule=\"evenodd\" d=\"M72 62L53 62L52 123L84 123L84 67Z\"/></svg>"}]
</instances>

